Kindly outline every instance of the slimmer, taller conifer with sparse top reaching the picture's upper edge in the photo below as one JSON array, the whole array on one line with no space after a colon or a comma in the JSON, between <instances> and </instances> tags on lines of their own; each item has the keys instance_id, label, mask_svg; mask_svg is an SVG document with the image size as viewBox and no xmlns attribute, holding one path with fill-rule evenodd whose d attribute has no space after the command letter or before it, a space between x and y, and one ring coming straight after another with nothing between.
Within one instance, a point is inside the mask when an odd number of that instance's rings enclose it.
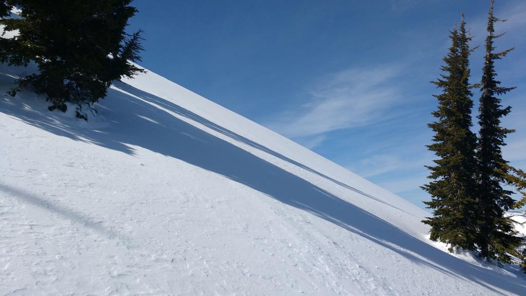
<instances>
[{"instance_id":1,"label":"slimmer, taller conifer with sparse top reaching the picture's upper edge","mask_svg":"<svg viewBox=\"0 0 526 296\"><path fill-rule=\"evenodd\" d=\"M482 68L481 97L479 105L479 137L477 147L478 161L478 214L480 229L477 244L480 256L487 260L497 258L509 262L510 256L521 243L521 238L515 236L511 219L504 216L505 211L512 209L515 201L512 192L502 187L509 172L507 161L502 158L501 147L505 145L507 134L514 132L500 126L501 118L508 115L511 107L502 107L498 97L513 90L515 87L502 87L496 80L494 62L507 55L513 48L494 53L495 22L501 19L493 15L493 0L488 16L488 36L485 40L485 58Z\"/></svg>"}]
</instances>

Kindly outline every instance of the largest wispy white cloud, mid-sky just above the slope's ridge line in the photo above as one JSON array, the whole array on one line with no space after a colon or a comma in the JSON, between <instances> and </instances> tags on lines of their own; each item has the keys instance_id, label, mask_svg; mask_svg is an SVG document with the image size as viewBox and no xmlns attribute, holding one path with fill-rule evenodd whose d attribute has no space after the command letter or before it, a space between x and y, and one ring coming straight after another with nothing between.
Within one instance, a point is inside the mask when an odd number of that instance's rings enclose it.
<instances>
[{"instance_id":1,"label":"largest wispy white cloud, mid-sky just above the slope's ridge line","mask_svg":"<svg viewBox=\"0 0 526 296\"><path fill-rule=\"evenodd\" d=\"M312 88L306 104L280 114L269 126L301 138L386 119L400 97L398 88L389 83L399 73L397 68L382 67L328 75Z\"/></svg>"}]
</instances>

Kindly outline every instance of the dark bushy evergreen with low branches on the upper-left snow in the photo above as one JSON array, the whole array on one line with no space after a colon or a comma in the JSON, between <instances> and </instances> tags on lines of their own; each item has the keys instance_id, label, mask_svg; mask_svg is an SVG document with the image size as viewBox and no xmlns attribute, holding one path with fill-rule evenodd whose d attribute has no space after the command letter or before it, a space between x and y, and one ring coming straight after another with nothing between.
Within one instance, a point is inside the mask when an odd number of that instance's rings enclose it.
<instances>
[{"instance_id":1,"label":"dark bushy evergreen with low branches on the upper-left snow","mask_svg":"<svg viewBox=\"0 0 526 296\"><path fill-rule=\"evenodd\" d=\"M143 72L140 31L125 33L128 18L137 9L131 0L7 0L22 9L21 18L1 19L0 24L19 36L2 40L0 61L24 65L34 61L39 73L21 78L19 87L32 84L52 103L49 110L66 111L66 102L77 104L77 117L106 96L113 80ZM16 92L16 90L14 91Z\"/></svg>"}]
</instances>

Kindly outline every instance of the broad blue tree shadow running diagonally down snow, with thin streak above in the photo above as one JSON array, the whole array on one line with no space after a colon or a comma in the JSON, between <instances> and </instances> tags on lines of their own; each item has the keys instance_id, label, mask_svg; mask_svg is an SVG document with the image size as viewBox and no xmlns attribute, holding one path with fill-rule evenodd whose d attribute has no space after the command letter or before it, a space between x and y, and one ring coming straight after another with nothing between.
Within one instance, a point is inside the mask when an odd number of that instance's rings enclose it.
<instances>
[{"instance_id":1,"label":"broad blue tree shadow running diagonally down snow, with thin streak above","mask_svg":"<svg viewBox=\"0 0 526 296\"><path fill-rule=\"evenodd\" d=\"M298 165L349 190L385 203L384 201L333 180L163 98L124 83L117 82L115 86L121 91L109 90L108 98L103 100L99 107L103 114L108 114L111 118L110 124L105 126L94 128L89 124L83 125L69 119L57 120L56 116L48 116L47 112L26 110L21 102L14 99L0 101L0 112L57 135L127 154L134 153L129 145L136 145L174 157L245 184L282 203L308 211L351 233L399 253L417 264L427 265L453 278L466 278L492 290L494 290L492 287L497 287L516 294L523 294L526 291L524 281L512 281L507 275L477 267L442 252L378 216L363 211L236 145L178 119L161 110L159 106L204 124L236 141ZM116 112L111 112L112 110Z\"/></svg>"}]
</instances>

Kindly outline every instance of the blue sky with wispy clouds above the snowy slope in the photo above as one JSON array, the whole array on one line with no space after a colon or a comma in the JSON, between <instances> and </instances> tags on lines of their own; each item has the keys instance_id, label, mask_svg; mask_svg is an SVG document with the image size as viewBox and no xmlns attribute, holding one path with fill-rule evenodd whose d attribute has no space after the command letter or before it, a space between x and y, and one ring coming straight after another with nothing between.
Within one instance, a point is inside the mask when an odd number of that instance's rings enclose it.
<instances>
[{"instance_id":1,"label":"blue sky with wispy clouds above the snowy slope","mask_svg":"<svg viewBox=\"0 0 526 296\"><path fill-rule=\"evenodd\" d=\"M526 169L526 1L497 0L516 46L498 62L517 129L504 156ZM141 65L265 125L423 207L434 155L424 145L437 102L448 30L466 13L483 45L489 0L136 0L130 30L144 29ZM480 79L482 48L471 57ZM477 103L478 91L473 100ZM474 112L477 112L477 106ZM476 121L474 121L476 123ZM476 130L476 126L474 127Z\"/></svg>"}]
</instances>

